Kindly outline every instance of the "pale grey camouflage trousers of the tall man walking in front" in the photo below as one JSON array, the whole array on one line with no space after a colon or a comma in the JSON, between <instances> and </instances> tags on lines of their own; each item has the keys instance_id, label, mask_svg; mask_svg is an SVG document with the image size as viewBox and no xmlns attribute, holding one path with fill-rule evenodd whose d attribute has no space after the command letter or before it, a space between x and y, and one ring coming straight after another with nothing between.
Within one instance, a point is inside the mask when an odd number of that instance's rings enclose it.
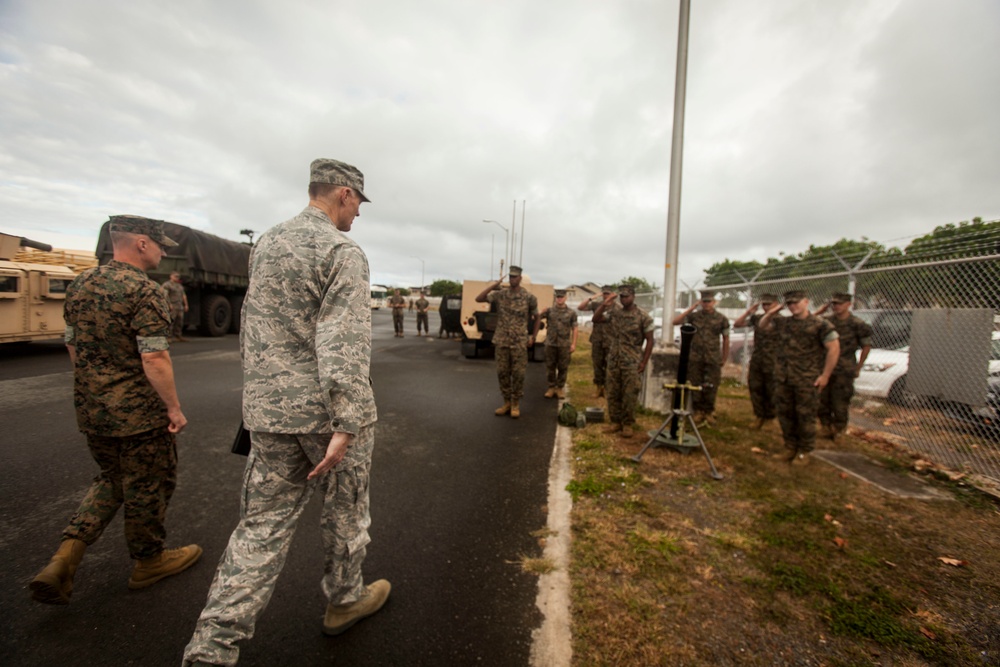
<instances>
[{"instance_id":1,"label":"pale grey camouflage trousers of the tall man walking in front","mask_svg":"<svg viewBox=\"0 0 1000 667\"><path fill-rule=\"evenodd\" d=\"M371 461L307 480L326 453L329 434L254 432L250 437L253 447L243 473L240 522L184 649L185 664L236 664L237 644L253 636L257 617L270 601L285 564L299 517L317 486L323 494L323 594L330 604L348 604L364 593L361 565L371 541ZM359 441L374 437L374 425L363 427L357 436Z\"/></svg>"}]
</instances>

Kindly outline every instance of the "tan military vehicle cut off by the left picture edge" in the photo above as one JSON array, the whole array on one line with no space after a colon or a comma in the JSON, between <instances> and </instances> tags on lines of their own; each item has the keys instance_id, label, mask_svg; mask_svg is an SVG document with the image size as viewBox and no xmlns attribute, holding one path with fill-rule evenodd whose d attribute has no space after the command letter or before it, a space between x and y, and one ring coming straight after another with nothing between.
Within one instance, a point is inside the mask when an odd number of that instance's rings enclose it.
<instances>
[{"instance_id":1,"label":"tan military vehicle cut off by the left picture edge","mask_svg":"<svg viewBox=\"0 0 1000 667\"><path fill-rule=\"evenodd\" d=\"M0 233L0 343L62 339L66 288L92 266L86 251Z\"/></svg>"}]
</instances>

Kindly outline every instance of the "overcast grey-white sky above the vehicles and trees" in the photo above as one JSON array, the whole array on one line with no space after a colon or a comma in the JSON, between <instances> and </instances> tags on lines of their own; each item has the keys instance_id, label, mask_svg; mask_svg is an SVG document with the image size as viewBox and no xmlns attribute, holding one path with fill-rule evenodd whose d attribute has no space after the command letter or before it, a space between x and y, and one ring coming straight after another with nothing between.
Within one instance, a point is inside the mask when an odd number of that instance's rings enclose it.
<instances>
[{"instance_id":1,"label":"overcast grey-white sky above the vehicles and trees","mask_svg":"<svg viewBox=\"0 0 1000 667\"><path fill-rule=\"evenodd\" d=\"M1000 218L1000 2L691 4L680 280ZM240 239L331 157L365 174L373 282L488 278L482 221L520 237L525 201L535 282L662 285L677 22L670 0L0 0L0 231L92 249L129 213Z\"/></svg>"}]
</instances>

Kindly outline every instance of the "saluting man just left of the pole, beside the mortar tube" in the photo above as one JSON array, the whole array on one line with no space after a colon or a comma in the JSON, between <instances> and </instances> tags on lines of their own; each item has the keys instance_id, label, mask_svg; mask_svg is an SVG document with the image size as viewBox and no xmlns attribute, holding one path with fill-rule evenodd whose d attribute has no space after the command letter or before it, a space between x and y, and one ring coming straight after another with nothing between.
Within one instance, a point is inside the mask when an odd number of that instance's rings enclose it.
<instances>
[{"instance_id":1,"label":"saluting man just left of the pole, beside the mortar tube","mask_svg":"<svg viewBox=\"0 0 1000 667\"><path fill-rule=\"evenodd\" d=\"M621 308L614 308L615 295L609 295L594 312L594 322L608 324L611 342L608 354L607 398L611 426L606 433L631 438L635 426L635 408L642 389L642 373L653 353L653 318L635 305L635 288L622 285L617 299ZM645 349L643 344L645 343Z\"/></svg>"}]
</instances>

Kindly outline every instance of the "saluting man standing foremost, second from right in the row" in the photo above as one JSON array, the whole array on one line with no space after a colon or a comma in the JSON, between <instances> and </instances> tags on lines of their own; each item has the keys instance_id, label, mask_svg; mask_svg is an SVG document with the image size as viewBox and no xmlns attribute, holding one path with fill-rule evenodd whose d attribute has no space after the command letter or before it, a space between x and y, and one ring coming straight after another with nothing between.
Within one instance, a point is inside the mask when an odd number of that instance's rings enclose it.
<instances>
[{"instance_id":1,"label":"saluting man standing foremost, second from right in the row","mask_svg":"<svg viewBox=\"0 0 1000 667\"><path fill-rule=\"evenodd\" d=\"M760 328L774 331L778 346L778 422L789 463L807 463L816 446L816 413L819 393L830 381L840 356L833 325L809 312L809 299L801 290L785 292L791 317L777 317L781 303L764 313Z\"/></svg>"}]
</instances>

